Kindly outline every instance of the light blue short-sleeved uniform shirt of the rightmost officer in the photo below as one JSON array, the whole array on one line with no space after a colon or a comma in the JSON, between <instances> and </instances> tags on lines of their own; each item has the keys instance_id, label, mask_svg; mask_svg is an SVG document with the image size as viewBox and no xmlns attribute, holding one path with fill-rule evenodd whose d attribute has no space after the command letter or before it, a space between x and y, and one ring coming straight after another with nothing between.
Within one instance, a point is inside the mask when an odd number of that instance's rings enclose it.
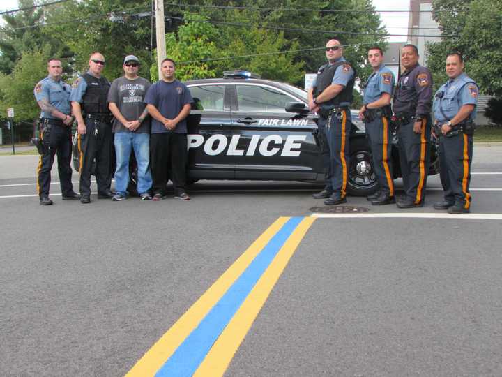
<instances>
[{"instance_id":1,"label":"light blue short-sleeved uniform shirt of the rightmost officer","mask_svg":"<svg viewBox=\"0 0 502 377\"><path fill-rule=\"evenodd\" d=\"M443 94L438 95L440 92ZM474 110L469 115L469 119L473 120L476 117L478 92L476 82L465 73L460 74L453 80L448 80L446 84L443 84L436 91L434 96L434 117L441 122L449 121L457 115L463 105L474 105ZM441 98L439 98L440 96ZM443 112L441 112L441 109Z\"/></svg>"}]
</instances>

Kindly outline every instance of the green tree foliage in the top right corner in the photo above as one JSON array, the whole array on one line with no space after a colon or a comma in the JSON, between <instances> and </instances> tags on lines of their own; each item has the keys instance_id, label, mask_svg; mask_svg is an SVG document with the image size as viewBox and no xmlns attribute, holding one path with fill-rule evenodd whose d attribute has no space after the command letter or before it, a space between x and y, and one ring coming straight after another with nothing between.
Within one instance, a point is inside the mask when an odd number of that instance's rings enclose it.
<instances>
[{"instance_id":1,"label":"green tree foliage in the top right corner","mask_svg":"<svg viewBox=\"0 0 502 377\"><path fill-rule=\"evenodd\" d=\"M436 85L447 77L448 52L464 54L465 71L483 94L502 96L502 8L500 0L434 0L434 20L442 34L458 34L429 44L427 65Z\"/></svg>"}]
</instances>

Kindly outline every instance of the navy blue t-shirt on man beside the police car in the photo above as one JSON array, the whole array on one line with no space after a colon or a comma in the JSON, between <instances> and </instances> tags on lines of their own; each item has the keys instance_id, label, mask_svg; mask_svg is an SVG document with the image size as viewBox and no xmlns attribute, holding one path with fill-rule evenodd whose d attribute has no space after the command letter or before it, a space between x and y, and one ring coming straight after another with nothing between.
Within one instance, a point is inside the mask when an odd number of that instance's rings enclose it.
<instances>
[{"instance_id":1,"label":"navy blue t-shirt on man beside the police car","mask_svg":"<svg viewBox=\"0 0 502 377\"><path fill-rule=\"evenodd\" d=\"M155 82L146 92L144 102L148 105L154 105L159 110L162 117L174 119L181 112L181 109L187 103L192 103L192 94L185 84L174 80L165 82L160 80ZM152 118L151 133L187 133L186 119L183 119L174 130L168 130L157 119Z\"/></svg>"}]
</instances>

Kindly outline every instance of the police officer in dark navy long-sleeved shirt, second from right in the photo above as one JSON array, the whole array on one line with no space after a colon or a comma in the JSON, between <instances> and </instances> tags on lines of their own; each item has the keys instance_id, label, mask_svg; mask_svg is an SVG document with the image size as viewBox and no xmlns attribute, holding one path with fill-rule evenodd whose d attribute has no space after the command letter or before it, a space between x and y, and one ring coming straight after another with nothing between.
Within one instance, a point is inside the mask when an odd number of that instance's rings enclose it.
<instances>
[{"instance_id":1,"label":"police officer in dark navy long-sleeved shirt, second from right","mask_svg":"<svg viewBox=\"0 0 502 377\"><path fill-rule=\"evenodd\" d=\"M404 186L397 207L422 207L430 163L432 75L418 64L415 45L404 45L401 62L405 71L397 82L393 102Z\"/></svg>"}]
</instances>

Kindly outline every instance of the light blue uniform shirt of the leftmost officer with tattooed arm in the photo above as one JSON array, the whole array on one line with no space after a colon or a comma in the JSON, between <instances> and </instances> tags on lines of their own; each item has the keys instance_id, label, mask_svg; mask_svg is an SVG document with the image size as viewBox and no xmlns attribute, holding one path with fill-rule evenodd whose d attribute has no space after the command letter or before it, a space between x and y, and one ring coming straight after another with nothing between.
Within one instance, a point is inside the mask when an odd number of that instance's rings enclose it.
<instances>
[{"instance_id":1,"label":"light blue uniform shirt of the leftmost officer with tattooed arm","mask_svg":"<svg viewBox=\"0 0 502 377\"><path fill-rule=\"evenodd\" d=\"M45 79L40 80L36 84L33 93L35 94L36 101L41 101L45 99L54 108L62 112L63 114L70 114L70 85L66 84L63 80L55 81L52 80L50 76L45 77ZM50 114L50 112L41 112L41 118L59 119Z\"/></svg>"}]
</instances>

